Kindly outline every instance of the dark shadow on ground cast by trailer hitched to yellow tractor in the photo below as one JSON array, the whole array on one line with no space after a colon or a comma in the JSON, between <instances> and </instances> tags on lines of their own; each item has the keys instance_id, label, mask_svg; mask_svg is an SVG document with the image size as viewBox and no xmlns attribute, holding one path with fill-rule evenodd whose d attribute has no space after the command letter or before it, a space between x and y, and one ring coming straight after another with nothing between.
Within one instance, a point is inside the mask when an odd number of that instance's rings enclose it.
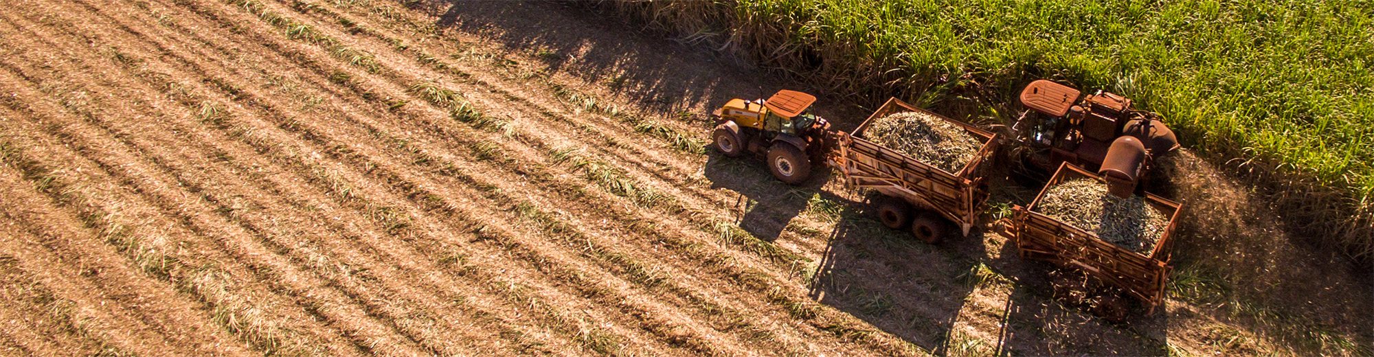
<instances>
[{"instance_id":1,"label":"dark shadow on ground cast by trailer hitched to yellow tractor","mask_svg":"<svg viewBox=\"0 0 1374 357\"><path fill-rule=\"evenodd\" d=\"M938 246L888 229L868 218L868 207L841 210L808 281L811 297L936 356L987 354L992 346L981 336L955 328L977 288L977 261L951 260Z\"/></svg>"}]
</instances>

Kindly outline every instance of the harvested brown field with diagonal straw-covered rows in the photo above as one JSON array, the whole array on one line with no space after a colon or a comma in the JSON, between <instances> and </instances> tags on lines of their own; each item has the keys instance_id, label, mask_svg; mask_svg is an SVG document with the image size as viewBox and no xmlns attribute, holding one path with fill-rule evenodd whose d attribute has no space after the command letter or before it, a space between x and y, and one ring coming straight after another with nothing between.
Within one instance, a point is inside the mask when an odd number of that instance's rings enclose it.
<instances>
[{"instance_id":1,"label":"harvested brown field with diagonal straw-covered rows","mask_svg":"<svg viewBox=\"0 0 1374 357\"><path fill-rule=\"evenodd\" d=\"M16 356L1286 349L1186 302L1110 325L1057 303L1037 280L1044 268L999 238L915 243L881 229L864 198L834 181L787 187L757 162L701 151L708 106L786 84L625 33L548 3L0 8L0 319L16 321L0 327L0 346ZM1314 284L1369 297L1340 279ZM1336 324L1370 321L1341 313Z\"/></svg>"}]
</instances>

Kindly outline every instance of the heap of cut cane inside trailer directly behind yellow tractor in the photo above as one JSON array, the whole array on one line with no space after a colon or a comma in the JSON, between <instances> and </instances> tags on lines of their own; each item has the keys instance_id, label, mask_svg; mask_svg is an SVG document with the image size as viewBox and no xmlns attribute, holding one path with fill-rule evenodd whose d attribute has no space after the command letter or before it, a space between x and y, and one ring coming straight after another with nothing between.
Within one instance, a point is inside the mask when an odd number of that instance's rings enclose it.
<instances>
[{"instance_id":1,"label":"heap of cut cane inside trailer directly behind yellow tractor","mask_svg":"<svg viewBox=\"0 0 1374 357\"><path fill-rule=\"evenodd\" d=\"M962 126L925 113L897 113L874 119L864 133L875 144L958 173L982 147Z\"/></svg>"}]
</instances>

